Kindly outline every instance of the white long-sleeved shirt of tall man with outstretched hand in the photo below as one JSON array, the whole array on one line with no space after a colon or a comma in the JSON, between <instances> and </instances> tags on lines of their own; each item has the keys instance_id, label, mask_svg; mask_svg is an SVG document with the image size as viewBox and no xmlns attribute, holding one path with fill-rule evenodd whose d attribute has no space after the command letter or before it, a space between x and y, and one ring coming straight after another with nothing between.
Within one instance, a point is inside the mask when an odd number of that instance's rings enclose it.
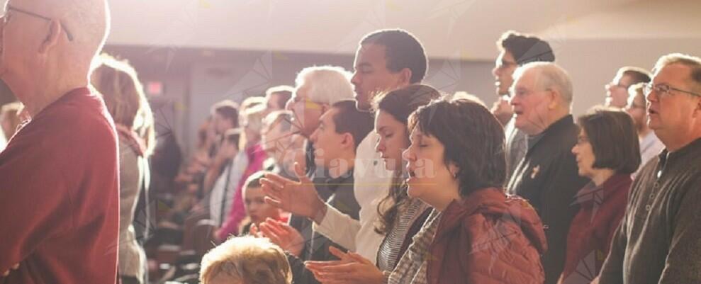
<instances>
[{"instance_id":1,"label":"white long-sleeved shirt of tall man with outstretched hand","mask_svg":"<svg viewBox=\"0 0 701 284\"><path fill-rule=\"evenodd\" d=\"M357 149L353 191L360 205L360 220L354 220L327 205L321 224L313 226L316 232L373 263L377 260L377 251L385 237L375 232L379 220L377 205L388 194L393 176L391 171L385 169L380 154L375 152L377 140L378 135L370 132Z\"/></svg>"}]
</instances>

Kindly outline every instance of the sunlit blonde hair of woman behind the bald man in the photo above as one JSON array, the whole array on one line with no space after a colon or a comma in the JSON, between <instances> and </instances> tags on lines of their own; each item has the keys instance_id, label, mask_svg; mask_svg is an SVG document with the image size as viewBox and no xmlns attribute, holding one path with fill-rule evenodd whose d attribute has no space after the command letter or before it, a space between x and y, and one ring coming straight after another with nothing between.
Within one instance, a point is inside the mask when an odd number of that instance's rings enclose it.
<instances>
[{"instance_id":1,"label":"sunlit blonde hair of woman behind the bald man","mask_svg":"<svg viewBox=\"0 0 701 284\"><path fill-rule=\"evenodd\" d=\"M111 55L99 56L91 84L105 101L114 123L129 127L146 142L147 155L155 147L155 125L151 107L139 81L136 70L129 62Z\"/></svg>"}]
</instances>

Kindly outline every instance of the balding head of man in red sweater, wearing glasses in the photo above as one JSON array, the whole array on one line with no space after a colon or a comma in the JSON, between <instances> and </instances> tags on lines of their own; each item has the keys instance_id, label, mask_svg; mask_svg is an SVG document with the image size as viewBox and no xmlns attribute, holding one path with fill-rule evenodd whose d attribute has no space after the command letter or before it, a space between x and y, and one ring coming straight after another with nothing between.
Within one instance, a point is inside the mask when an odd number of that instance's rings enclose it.
<instances>
[{"instance_id":1,"label":"balding head of man in red sweater, wearing glasses","mask_svg":"<svg viewBox=\"0 0 701 284\"><path fill-rule=\"evenodd\" d=\"M0 78L30 113L89 85L109 30L106 0L9 0L5 11Z\"/></svg>"}]
</instances>

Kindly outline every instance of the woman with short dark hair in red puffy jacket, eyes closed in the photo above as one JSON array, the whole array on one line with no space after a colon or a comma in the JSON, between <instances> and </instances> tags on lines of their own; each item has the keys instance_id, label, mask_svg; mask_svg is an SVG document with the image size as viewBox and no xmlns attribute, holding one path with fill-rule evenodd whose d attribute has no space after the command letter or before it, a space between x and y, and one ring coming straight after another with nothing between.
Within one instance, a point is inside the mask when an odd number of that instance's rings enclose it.
<instances>
[{"instance_id":1,"label":"woman with short dark hair in red puffy jacket, eyes closed","mask_svg":"<svg viewBox=\"0 0 701 284\"><path fill-rule=\"evenodd\" d=\"M542 283L543 225L505 195L504 132L486 107L434 101L410 117L408 195L432 208L388 283Z\"/></svg>"}]
</instances>

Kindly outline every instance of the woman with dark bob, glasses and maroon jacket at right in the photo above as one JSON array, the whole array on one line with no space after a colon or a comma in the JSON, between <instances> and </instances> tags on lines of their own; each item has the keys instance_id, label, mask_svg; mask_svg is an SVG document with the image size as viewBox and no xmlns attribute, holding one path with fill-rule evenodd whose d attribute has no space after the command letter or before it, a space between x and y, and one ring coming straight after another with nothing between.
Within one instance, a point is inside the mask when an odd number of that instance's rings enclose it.
<instances>
[{"instance_id":1,"label":"woman with dark bob, glasses and maroon jacket at right","mask_svg":"<svg viewBox=\"0 0 701 284\"><path fill-rule=\"evenodd\" d=\"M572 204L579 212L570 225L565 267L558 283L590 283L599 275L611 239L624 215L640 146L632 118L612 108L595 108L578 118L579 175L591 179Z\"/></svg>"}]
</instances>

